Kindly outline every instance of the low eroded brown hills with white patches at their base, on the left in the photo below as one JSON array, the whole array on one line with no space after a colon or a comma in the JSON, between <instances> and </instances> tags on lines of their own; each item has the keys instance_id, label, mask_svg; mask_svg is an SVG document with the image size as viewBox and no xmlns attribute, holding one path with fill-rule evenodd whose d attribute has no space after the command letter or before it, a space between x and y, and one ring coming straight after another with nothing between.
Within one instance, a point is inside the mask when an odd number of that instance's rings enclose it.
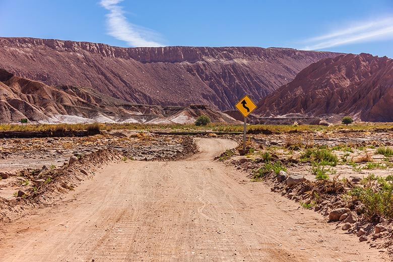
<instances>
[{"instance_id":1,"label":"low eroded brown hills with white patches at their base, on the left","mask_svg":"<svg viewBox=\"0 0 393 262\"><path fill-rule=\"evenodd\" d=\"M0 69L0 122L21 118L41 123L193 123L202 115L214 122L237 120L204 105L154 106L126 102L92 88L52 87Z\"/></svg>"}]
</instances>

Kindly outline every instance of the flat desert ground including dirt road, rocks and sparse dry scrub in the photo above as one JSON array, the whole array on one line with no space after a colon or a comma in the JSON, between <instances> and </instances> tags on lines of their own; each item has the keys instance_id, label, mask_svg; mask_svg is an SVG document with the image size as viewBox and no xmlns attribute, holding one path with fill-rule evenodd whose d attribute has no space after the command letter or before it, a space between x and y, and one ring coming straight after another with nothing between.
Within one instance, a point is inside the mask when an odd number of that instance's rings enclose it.
<instances>
[{"instance_id":1,"label":"flat desert ground including dirt road, rocks and sparse dry scrub","mask_svg":"<svg viewBox=\"0 0 393 262\"><path fill-rule=\"evenodd\" d=\"M299 129L3 138L0 260L390 261L388 214L346 197L390 183L392 129Z\"/></svg>"}]
</instances>

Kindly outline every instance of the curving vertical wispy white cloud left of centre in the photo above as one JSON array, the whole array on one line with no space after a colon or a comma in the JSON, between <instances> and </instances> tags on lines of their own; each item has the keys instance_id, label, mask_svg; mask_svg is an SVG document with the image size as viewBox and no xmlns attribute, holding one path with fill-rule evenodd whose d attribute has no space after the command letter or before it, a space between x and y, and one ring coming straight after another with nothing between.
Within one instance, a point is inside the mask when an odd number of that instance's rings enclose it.
<instances>
[{"instance_id":1,"label":"curving vertical wispy white cloud left of centre","mask_svg":"<svg viewBox=\"0 0 393 262\"><path fill-rule=\"evenodd\" d=\"M150 29L129 23L118 4L123 0L101 0L100 5L109 11L106 15L108 34L125 41L130 46L163 46L153 40L158 34Z\"/></svg>"}]
</instances>

